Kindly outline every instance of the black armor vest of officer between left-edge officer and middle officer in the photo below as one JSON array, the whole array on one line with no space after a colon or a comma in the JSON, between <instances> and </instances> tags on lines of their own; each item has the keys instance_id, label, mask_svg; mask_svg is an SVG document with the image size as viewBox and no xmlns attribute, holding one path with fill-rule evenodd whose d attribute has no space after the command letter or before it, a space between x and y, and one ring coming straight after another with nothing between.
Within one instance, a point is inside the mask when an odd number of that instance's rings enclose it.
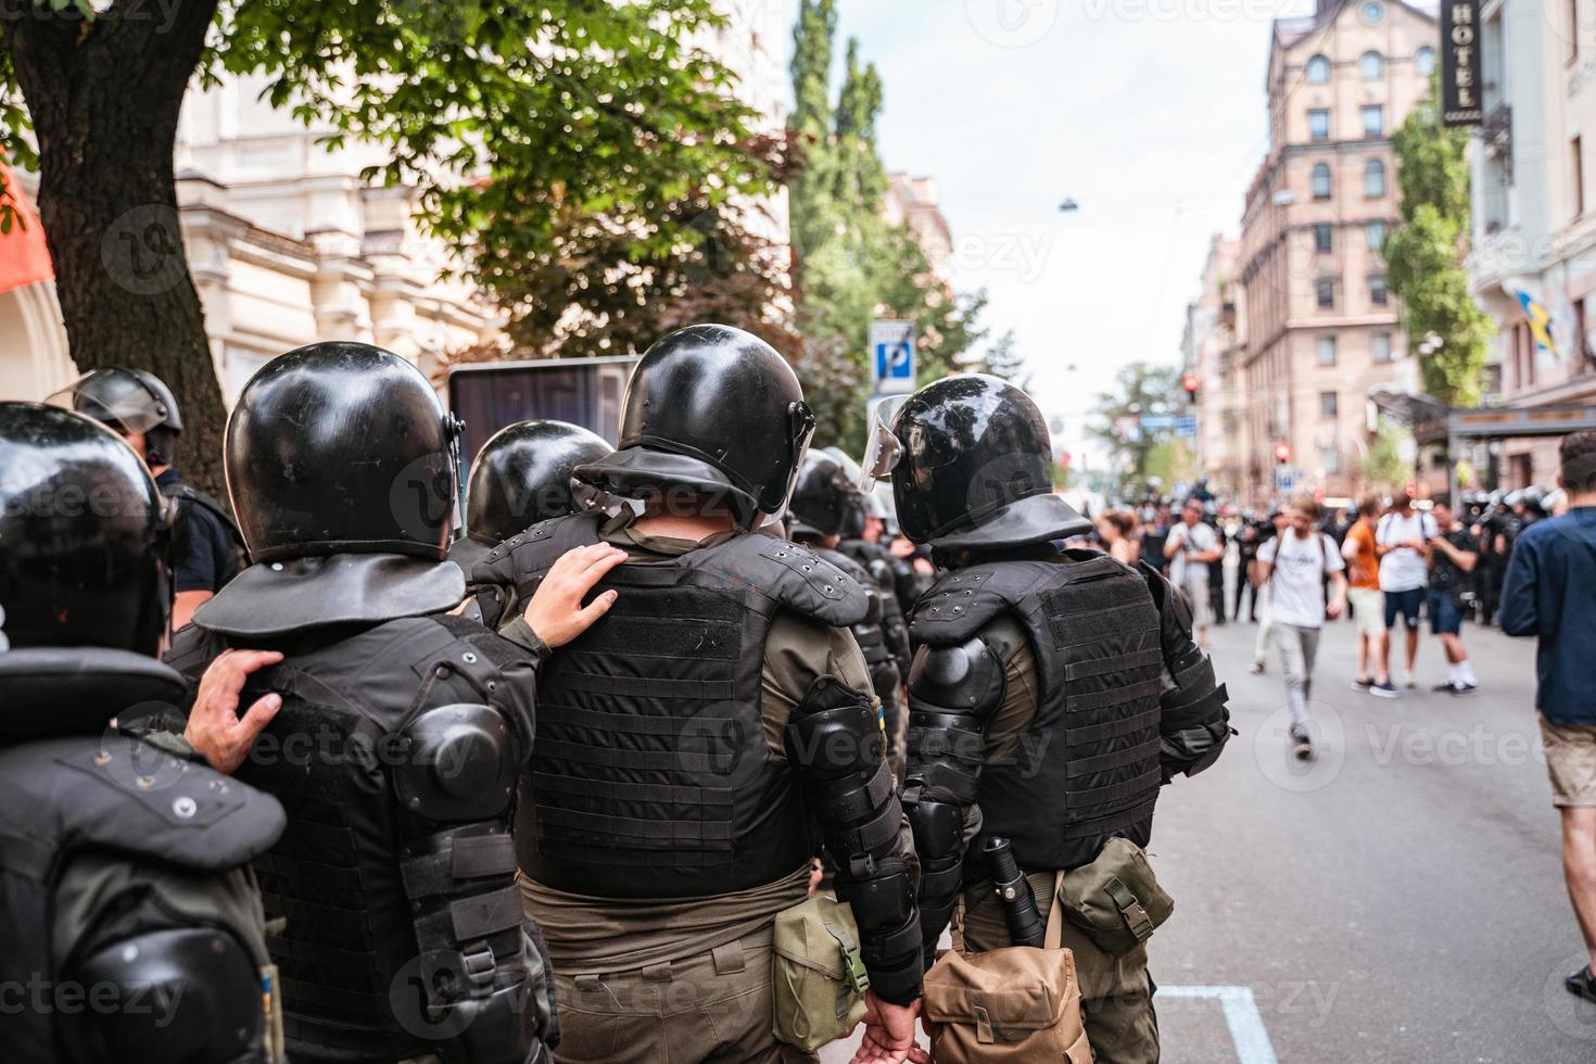
<instances>
[{"instance_id":1,"label":"black armor vest of officer between left-edge officer and middle officer","mask_svg":"<svg viewBox=\"0 0 1596 1064\"><path fill-rule=\"evenodd\" d=\"M405 774L428 766L407 727L440 708L464 723L496 718L519 764L531 743L531 664L450 616L265 643L284 660L249 678L241 705L278 692L282 708L236 775L289 815L282 839L255 861L267 922L279 925L267 946L281 970L289 1058L386 1064L434 1053L458 1032L428 1018L429 956L464 956L484 979L520 960L523 916L503 837L514 777L496 815L421 815L423 801L405 798ZM168 660L198 678L227 646L192 627ZM493 770L479 759L444 764L442 753L437 767L456 775ZM431 860L450 828L472 836L469 852L464 839L448 844L453 879L448 861Z\"/></svg>"}]
</instances>

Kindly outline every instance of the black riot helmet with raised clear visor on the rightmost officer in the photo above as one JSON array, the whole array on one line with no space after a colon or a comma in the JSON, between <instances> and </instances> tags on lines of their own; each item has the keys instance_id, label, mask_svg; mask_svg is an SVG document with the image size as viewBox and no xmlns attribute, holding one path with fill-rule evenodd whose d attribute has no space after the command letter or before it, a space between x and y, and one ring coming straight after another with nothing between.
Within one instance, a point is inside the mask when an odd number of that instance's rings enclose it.
<instances>
[{"instance_id":1,"label":"black riot helmet with raised clear visor on the rightmost officer","mask_svg":"<svg viewBox=\"0 0 1596 1064\"><path fill-rule=\"evenodd\" d=\"M996 376L945 376L921 388L871 440L865 469L891 467L897 518L915 542L1013 547L1092 530L1053 495L1042 412ZM894 450L902 451L895 461Z\"/></svg>"}]
</instances>

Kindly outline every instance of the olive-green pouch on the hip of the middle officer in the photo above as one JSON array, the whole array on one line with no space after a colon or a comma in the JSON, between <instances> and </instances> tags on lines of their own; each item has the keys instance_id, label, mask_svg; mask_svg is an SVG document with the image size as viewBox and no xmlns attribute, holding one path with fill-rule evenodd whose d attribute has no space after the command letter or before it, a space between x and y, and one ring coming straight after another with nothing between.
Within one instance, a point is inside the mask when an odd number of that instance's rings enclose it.
<instances>
[{"instance_id":1,"label":"olive-green pouch on the hip of the middle officer","mask_svg":"<svg viewBox=\"0 0 1596 1064\"><path fill-rule=\"evenodd\" d=\"M774 946L776 1037L800 1050L819 1050L852 1034L865 1018L870 989L854 911L816 895L777 914Z\"/></svg>"}]
</instances>

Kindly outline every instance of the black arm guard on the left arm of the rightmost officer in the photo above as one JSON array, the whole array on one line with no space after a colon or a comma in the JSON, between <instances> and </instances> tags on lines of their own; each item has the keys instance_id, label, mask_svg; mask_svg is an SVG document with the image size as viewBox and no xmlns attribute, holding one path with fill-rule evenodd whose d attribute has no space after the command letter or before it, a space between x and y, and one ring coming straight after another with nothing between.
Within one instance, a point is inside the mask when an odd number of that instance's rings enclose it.
<instances>
[{"instance_id":1,"label":"black arm guard on the left arm of the rightmost officer","mask_svg":"<svg viewBox=\"0 0 1596 1064\"><path fill-rule=\"evenodd\" d=\"M903 806L919 857L926 956L953 916L964 879L964 810L986 759L986 716L1002 702L1002 668L978 638L921 654L908 683Z\"/></svg>"}]
</instances>

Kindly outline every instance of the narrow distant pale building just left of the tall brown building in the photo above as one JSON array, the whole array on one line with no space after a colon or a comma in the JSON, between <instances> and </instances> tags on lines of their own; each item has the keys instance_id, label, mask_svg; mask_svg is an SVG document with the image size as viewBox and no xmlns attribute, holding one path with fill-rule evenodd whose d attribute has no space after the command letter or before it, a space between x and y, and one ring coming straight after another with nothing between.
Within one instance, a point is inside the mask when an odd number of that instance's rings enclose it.
<instances>
[{"instance_id":1,"label":"narrow distant pale building just left of the tall brown building","mask_svg":"<svg viewBox=\"0 0 1596 1064\"><path fill-rule=\"evenodd\" d=\"M1245 383L1245 290L1237 276L1242 244L1215 234L1208 244L1197 298L1186 308L1181 349L1186 372L1197 375L1197 463L1208 488L1238 496L1245 485L1243 426L1248 396Z\"/></svg>"}]
</instances>

